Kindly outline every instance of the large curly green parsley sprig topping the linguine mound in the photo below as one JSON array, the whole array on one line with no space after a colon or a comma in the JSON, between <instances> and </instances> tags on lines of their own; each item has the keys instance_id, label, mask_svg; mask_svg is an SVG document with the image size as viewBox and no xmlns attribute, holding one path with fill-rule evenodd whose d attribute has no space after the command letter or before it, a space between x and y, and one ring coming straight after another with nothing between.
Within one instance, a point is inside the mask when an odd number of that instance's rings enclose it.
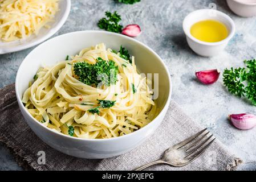
<instances>
[{"instance_id":1,"label":"large curly green parsley sprig topping the linguine mound","mask_svg":"<svg viewBox=\"0 0 256 182\"><path fill-rule=\"evenodd\" d=\"M84 84L97 86L102 82L105 86L109 86L116 84L118 66L112 60L105 61L99 57L96 64L75 63L74 72Z\"/></svg>"}]
</instances>

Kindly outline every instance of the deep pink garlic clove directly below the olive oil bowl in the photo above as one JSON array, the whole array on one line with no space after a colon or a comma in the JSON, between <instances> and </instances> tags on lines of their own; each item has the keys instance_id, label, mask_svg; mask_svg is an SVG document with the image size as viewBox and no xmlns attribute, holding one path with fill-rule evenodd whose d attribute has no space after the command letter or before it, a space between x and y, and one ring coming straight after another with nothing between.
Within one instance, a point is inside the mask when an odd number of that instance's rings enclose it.
<instances>
[{"instance_id":1,"label":"deep pink garlic clove directly below the olive oil bowl","mask_svg":"<svg viewBox=\"0 0 256 182\"><path fill-rule=\"evenodd\" d=\"M205 70L201 72L196 72L198 80L203 84L209 85L216 82L220 76L220 72L217 69Z\"/></svg>"}]
</instances>

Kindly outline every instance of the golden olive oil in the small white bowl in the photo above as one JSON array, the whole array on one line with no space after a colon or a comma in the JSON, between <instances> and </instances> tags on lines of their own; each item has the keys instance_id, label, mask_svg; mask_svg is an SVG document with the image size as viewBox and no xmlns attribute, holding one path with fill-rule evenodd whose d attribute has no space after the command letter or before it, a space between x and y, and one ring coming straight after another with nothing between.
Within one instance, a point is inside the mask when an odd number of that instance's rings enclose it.
<instances>
[{"instance_id":1,"label":"golden olive oil in the small white bowl","mask_svg":"<svg viewBox=\"0 0 256 182\"><path fill-rule=\"evenodd\" d=\"M224 23L212 19L194 23L190 33L194 38L204 42L220 42L229 35L229 31Z\"/></svg>"}]
</instances>

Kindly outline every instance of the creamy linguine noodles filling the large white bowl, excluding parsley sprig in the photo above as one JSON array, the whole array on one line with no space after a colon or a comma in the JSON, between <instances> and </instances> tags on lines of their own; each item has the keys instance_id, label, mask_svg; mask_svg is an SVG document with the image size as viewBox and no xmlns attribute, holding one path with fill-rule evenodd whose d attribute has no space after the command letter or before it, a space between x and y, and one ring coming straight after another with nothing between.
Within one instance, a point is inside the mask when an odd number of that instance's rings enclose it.
<instances>
[{"instance_id":1,"label":"creamy linguine noodles filling the large white bowl, excluding parsley sprig","mask_svg":"<svg viewBox=\"0 0 256 182\"><path fill-rule=\"evenodd\" d=\"M74 64L95 64L99 57L118 66L115 84L86 85L75 75ZM129 63L120 53L99 44L71 58L39 68L36 80L23 95L26 109L42 125L73 137L104 139L132 133L155 118L157 107L148 86L150 80L137 73L134 57ZM115 101L115 105L99 107L99 100ZM100 112L91 113L94 108Z\"/></svg>"}]
</instances>

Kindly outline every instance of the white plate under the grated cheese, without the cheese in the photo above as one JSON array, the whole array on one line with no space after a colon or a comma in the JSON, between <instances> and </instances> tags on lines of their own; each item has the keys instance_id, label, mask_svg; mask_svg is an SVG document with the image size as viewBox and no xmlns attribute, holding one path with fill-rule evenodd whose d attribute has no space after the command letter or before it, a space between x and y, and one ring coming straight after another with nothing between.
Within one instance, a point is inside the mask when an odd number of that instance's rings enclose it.
<instances>
[{"instance_id":1,"label":"white plate under the grated cheese, without the cheese","mask_svg":"<svg viewBox=\"0 0 256 182\"><path fill-rule=\"evenodd\" d=\"M37 44L42 43L44 40L54 35L66 22L68 15L70 14L71 1L60 0L59 11L56 13L54 22L48 23L50 28L41 28L38 35L32 34L25 40L16 40L13 42L1 42L0 40L0 55L4 53L21 51Z\"/></svg>"}]
</instances>

